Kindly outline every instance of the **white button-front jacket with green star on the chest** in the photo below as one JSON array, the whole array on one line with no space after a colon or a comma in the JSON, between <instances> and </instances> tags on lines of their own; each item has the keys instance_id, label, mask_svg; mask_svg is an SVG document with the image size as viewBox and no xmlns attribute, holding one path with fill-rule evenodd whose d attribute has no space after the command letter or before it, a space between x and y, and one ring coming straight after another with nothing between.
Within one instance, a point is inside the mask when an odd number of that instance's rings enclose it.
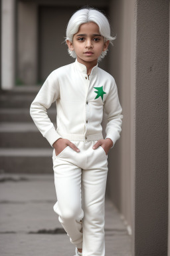
<instances>
[{"instance_id":1,"label":"white button-front jacket with green star on the chest","mask_svg":"<svg viewBox=\"0 0 170 256\"><path fill-rule=\"evenodd\" d=\"M56 129L46 112L54 101ZM52 147L59 138L84 142L104 139L103 107L108 114L106 138L115 144L120 138L124 116L114 77L97 64L88 79L86 66L76 59L48 75L31 103L30 115Z\"/></svg>"}]
</instances>

